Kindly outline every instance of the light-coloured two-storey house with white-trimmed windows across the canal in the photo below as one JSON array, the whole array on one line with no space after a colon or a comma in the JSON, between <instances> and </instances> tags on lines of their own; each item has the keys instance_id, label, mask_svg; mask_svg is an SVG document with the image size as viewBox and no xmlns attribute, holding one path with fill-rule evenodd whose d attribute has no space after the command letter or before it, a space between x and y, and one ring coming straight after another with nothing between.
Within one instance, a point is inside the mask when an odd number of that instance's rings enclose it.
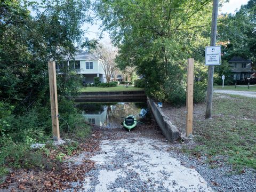
<instances>
[{"instance_id":1,"label":"light-coloured two-storey house with white-trimmed windows across the canal","mask_svg":"<svg viewBox=\"0 0 256 192\"><path fill-rule=\"evenodd\" d=\"M77 74L83 75L84 83L94 83L94 77L100 77L101 82L106 82L105 72L102 68L102 61L97 54L80 52L74 59L56 64L57 72L65 66L74 69Z\"/></svg>"}]
</instances>

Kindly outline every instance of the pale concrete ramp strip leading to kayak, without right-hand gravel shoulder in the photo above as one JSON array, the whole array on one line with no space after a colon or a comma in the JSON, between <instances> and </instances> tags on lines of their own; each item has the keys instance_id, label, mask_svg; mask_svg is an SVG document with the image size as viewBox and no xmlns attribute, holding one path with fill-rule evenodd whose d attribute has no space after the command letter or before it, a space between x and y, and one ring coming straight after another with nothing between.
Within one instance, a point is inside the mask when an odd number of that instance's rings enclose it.
<instances>
[{"instance_id":1,"label":"pale concrete ramp strip leading to kayak, without right-hand gravel shoulder","mask_svg":"<svg viewBox=\"0 0 256 192\"><path fill-rule=\"evenodd\" d=\"M90 157L95 169L86 173L81 191L213 191L194 167L174 158L159 130L102 134L100 151Z\"/></svg>"}]
</instances>

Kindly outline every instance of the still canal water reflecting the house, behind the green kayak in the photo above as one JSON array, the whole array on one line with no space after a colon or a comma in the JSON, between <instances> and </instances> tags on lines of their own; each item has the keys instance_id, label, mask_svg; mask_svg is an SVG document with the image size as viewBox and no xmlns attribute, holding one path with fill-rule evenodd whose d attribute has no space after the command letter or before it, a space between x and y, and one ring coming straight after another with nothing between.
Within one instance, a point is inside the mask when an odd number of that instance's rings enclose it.
<instances>
[{"instance_id":1,"label":"still canal water reflecting the house, behind the green kayak","mask_svg":"<svg viewBox=\"0 0 256 192\"><path fill-rule=\"evenodd\" d=\"M77 108L87 122L108 129L122 128L128 115L134 115L138 124L150 121L146 102L77 103Z\"/></svg>"}]
</instances>

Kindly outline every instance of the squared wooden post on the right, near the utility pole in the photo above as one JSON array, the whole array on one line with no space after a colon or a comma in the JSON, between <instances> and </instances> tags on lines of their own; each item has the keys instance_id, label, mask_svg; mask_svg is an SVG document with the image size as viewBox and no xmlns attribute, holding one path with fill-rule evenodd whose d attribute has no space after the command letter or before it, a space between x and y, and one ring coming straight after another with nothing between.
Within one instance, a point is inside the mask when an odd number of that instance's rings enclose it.
<instances>
[{"instance_id":1,"label":"squared wooden post on the right, near the utility pole","mask_svg":"<svg viewBox=\"0 0 256 192\"><path fill-rule=\"evenodd\" d=\"M194 89L194 59L188 59L188 76L187 76L187 122L186 137L192 134L193 127L193 89Z\"/></svg>"}]
</instances>

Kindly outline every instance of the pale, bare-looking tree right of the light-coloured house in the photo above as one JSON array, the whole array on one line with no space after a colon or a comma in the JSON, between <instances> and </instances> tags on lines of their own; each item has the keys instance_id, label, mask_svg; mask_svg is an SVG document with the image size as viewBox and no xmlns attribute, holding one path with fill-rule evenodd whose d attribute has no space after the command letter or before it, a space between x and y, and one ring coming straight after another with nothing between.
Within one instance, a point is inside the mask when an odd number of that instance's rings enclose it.
<instances>
[{"instance_id":1,"label":"pale, bare-looking tree right of the light-coloured house","mask_svg":"<svg viewBox=\"0 0 256 192\"><path fill-rule=\"evenodd\" d=\"M98 43L94 52L100 56L106 80L107 83L109 83L114 71L117 68L115 62L117 49L110 44Z\"/></svg>"}]
</instances>

